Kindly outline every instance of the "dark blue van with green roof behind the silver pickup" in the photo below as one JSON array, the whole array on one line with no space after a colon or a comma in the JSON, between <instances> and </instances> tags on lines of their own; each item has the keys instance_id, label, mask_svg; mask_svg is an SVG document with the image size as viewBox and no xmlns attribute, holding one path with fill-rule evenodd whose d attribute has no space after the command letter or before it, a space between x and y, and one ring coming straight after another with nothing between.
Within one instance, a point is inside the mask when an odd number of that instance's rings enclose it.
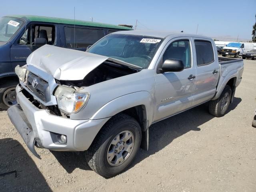
<instances>
[{"instance_id":1,"label":"dark blue van with green roof behind the silver pickup","mask_svg":"<svg viewBox=\"0 0 256 192\"><path fill-rule=\"evenodd\" d=\"M124 26L42 16L0 18L0 108L16 104L18 77L14 68L44 44L85 51L103 36Z\"/></svg>"}]
</instances>

